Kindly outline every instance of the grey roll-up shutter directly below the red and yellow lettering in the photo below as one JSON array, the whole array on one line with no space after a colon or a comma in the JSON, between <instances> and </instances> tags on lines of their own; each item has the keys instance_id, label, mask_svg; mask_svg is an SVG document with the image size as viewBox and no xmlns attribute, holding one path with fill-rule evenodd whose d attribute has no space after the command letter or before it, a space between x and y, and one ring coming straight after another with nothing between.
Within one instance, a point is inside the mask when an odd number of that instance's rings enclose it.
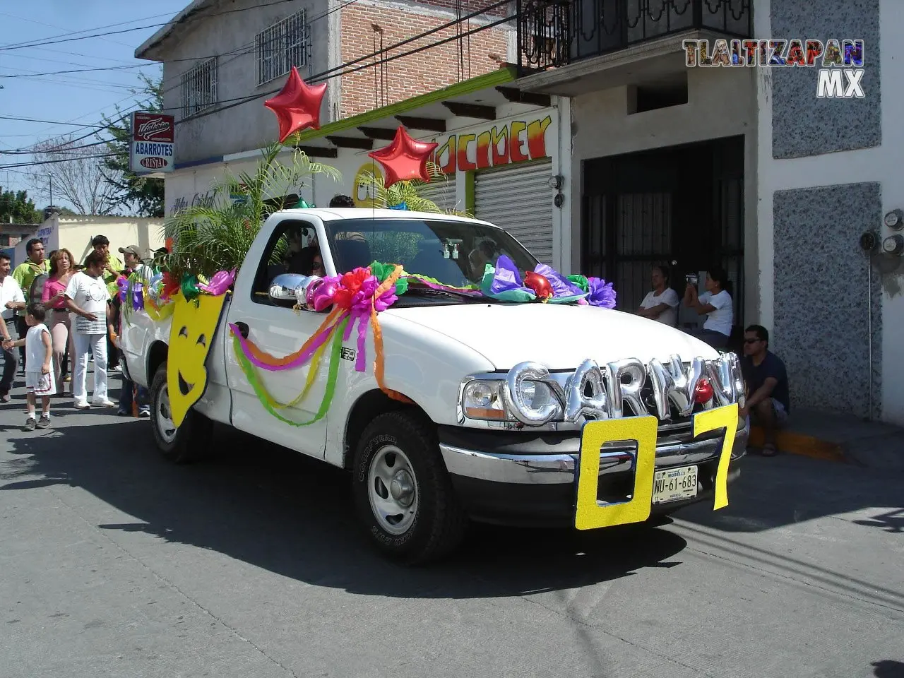
<instances>
[{"instance_id":1,"label":"grey roll-up shutter directly below the red and yellow lettering","mask_svg":"<svg viewBox=\"0 0 904 678\"><path fill-rule=\"evenodd\" d=\"M511 233L534 257L552 265L551 161L477 172L474 211L477 219Z\"/></svg>"}]
</instances>

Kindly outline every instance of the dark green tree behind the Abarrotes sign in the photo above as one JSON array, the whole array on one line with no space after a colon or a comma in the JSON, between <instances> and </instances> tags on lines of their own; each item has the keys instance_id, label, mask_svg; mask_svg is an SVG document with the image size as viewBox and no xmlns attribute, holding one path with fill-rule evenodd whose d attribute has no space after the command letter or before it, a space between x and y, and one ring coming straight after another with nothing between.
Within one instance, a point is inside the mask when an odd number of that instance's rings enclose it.
<instances>
[{"instance_id":1,"label":"dark green tree behind the Abarrotes sign","mask_svg":"<svg viewBox=\"0 0 904 678\"><path fill-rule=\"evenodd\" d=\"M132 90L137 97L143 97L137 102L137 108L147 111L163 110L163 75L156 80L144 73L139 77L144 81L144 89ZM113 119L105 117L104 124L107 125L106 131L113 137L106 146L108 153L115 154L103 161L104 181L114 191L117 206L138 216L163 217L164 180L138 176L128 168L130 116L117 107L116 116Z\"/></svg>"}]
</instances>

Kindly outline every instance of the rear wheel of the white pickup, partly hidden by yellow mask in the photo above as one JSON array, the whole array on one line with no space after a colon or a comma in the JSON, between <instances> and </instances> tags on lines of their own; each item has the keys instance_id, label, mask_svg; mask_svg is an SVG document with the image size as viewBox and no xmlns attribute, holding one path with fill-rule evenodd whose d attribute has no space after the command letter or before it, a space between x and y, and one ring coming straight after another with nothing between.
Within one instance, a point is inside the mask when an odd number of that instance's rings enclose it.
<instances>
[{"instance_id":1,"label":"rear wheel of the white pickup, partly hidden by yellow mask","mask_svg":"<svg viewBox=\"0 0 904 678\"><path fill-rule=\"evenodd\" d=\"M176 428L170 412L166 361L151 382L151 429L160 454L175 464L190 464L203 457L212 437L213 422L194 410L189 410L182 426Z\"/></svg>"}]
</instances>

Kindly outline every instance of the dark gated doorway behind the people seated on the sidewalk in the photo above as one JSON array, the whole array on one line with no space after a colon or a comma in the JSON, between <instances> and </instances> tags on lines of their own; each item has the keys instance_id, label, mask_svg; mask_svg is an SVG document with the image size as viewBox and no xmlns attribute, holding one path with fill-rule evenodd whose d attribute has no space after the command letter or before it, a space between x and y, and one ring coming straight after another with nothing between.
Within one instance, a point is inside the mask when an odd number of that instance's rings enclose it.
<instances>
[{"instance_id":1,"label":"dark gated doorway behind the people seated on the sidewalk","mask_svg":"<svg viewBox=\"0 0 904 678\"><path fill-rule=\"evenodd\" d=\"M582 174L581 272L611 281L619 310L640 306L654 264L679 297L685 275L721 266L743 324L743 136L585 160ZM680 309L680 326L698 323Z\"/></svg>"}]
</instances>

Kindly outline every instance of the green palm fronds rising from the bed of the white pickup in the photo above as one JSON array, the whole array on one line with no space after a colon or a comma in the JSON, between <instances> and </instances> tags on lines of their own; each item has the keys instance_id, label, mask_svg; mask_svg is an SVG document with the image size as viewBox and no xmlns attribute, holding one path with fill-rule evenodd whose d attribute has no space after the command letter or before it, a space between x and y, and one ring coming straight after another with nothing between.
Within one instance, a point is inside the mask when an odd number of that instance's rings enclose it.
<instances>
[{"instance_id":1,"label":"green palm fronds rising from the bed of the white pickup","mask_svg":"<svg viewBox=\"0 0 904 678\"><path fill-rule=\"evenodd\" d=\"M315 174L339 181L339 171L292 151L291 162L278 162L284 146L271 144L261 153L253 174L241 173L212 185L212 204L193 205L165 221L165 238L173 251L160 259L174 276L184 273L210 278L221 270L240 268L260 227L272 212L295 207L297 194Z\"/></svg>"}]
</instances>

